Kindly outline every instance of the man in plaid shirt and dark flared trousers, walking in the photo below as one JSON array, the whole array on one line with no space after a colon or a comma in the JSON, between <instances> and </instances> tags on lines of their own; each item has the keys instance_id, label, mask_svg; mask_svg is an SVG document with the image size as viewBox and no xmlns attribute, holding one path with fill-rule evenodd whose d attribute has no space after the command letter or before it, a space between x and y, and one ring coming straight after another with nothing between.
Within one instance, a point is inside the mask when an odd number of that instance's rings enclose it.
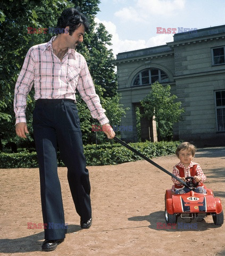
<instances>
[{"instance_id":1,"label":"man in plaid shirt and dark flared trousers, walking","mask_svg":"<svg viewBox=\"0 0 225 256\"><path fill-rule=\"evenodd\" d=\"M33 128L39 163L43 220L46 228L44 251L55 250L64 241L64 211L56 151L59 145L68 168L68 182L80 215L81 228L91 225L90 182L82 146L76 89L87 103L91 116L97 118L108 138L115 133L105 116L85 58L75 51L88 28L86 17L74 8L66 9L58 19L57 28L64 33L51 41L32 46L24 60L15 85L14 111L16 134L26 138L26 100L35 88L36 105Z\"/></svg>"}]
</instances>

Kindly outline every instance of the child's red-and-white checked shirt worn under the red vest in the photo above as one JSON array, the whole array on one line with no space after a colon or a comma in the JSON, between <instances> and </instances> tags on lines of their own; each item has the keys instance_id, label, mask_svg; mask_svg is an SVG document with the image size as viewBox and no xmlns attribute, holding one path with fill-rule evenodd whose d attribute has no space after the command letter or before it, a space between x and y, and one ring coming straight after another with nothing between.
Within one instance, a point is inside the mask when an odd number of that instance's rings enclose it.
<instances>
[{"instance_id":1,"label":"child's red-and-white checked shirt worn under the red vest","mask_svg":"<svg viewBox=\"0 0 225 256\"><path fill-rule=\"evenodd\" d=\"M196 175L201 177L201 183L206 180L205 174L203 173L202 168L200 167L199 164L190 162L190 164L189 164L189 166L187 168L181 162L178 163L177 165L184 169L185 178L186 177L190 177L190 167L193 167L193 165L197 165L197 167L196 167ZM176 175L178 178L181 179L181 177L179 175L179 170L176 167L177 165L173 166L173 172L172 173L174 175ZM173 181L174 184L177 184L177 185L180 184L180 182L178 180L174 179L174 178L172 178L172 181Z\"/></svg>"}]
</instances>

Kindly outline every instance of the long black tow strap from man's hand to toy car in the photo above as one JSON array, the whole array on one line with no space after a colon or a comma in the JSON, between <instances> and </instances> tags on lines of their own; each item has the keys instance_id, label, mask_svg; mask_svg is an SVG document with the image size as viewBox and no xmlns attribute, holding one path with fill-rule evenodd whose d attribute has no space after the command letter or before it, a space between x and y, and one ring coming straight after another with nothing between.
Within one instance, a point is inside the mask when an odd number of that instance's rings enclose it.
<instances>
[{"instance_id":1,"label":"long black tow strap from man's hand to toy car","mask_svg":"<svg viewBox=\"0 0 225 256\"><path fill-rule=\"evenodd\" d=\"M145 159L146 161L148 161L149 163L153 164L155 167L157 167L158 169L160 169L161 171L169 174L171 177L173 177L174 179L178 180L180 183L182 183L185 187L188 187L186 182L184 180L179 179L176 175L172 174L171 172L165 170L162 166L160 166L159 164L156 164L154 161L152 161L150 158L148 158L147 156L141 154L139 151L137 151L136 149L130 147L127 143L125 143L124 141L120 140L117 137L114 137L114 140L119 142L121 145L123 145L124 147L130 149L132 152L134 152L136 155L142 157L143 159ZM189 187L188 187L189 188Z\"/></svg>"}]
</instances>

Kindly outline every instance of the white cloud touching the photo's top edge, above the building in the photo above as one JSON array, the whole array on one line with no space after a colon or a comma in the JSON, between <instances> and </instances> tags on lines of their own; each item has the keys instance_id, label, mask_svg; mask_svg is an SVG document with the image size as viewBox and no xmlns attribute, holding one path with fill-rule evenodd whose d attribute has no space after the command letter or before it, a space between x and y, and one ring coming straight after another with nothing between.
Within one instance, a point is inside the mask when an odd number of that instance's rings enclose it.
<instances>
[{"instance_id":1,"label":"white cloud touching the photo's top edge, above the building","mask_svg":"<svg viewBox=\"0 0 225 256\"><path fill-rule=\"evenodd\" d=\"M175 11L184 9L186 0L137 0L135 7L124 7L114 13L124 21L147 21L154 16L171 17Z\"/></svg>"}]
</instances>

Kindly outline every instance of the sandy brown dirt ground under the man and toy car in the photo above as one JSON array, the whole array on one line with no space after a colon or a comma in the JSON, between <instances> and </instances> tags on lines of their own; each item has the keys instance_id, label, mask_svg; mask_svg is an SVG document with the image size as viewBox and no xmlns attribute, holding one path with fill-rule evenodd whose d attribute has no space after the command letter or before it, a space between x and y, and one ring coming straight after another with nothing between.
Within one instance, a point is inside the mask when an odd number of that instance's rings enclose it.
<instances>
[{"instance_id":1,"label":"sandy brown dirt ground under the man and toy car","mask_svg":"<svg viewBox=\"0 0 225 256\"><path fill-rule=\"evenodd\" d=\"M153 159L172 171L175 155ZM207 176L205 185L225 207L225 147L197 151L195 162ZM91 181L93 225L81 230L74 209L66 169L59 168L68 234L53 252L42 252L44 229L28 229L27 222L42 223L38 169L0 169L0 255L157 256L225 255L224 225L211 216L196 229L159 229L164 219L164 193L169 175L146 161L88 167ZM178 222L183 222L180 218ZM195 225L196 225L195 224ZM196 226L195 226L196 227Z\"/></svg>"}]
</instances>

